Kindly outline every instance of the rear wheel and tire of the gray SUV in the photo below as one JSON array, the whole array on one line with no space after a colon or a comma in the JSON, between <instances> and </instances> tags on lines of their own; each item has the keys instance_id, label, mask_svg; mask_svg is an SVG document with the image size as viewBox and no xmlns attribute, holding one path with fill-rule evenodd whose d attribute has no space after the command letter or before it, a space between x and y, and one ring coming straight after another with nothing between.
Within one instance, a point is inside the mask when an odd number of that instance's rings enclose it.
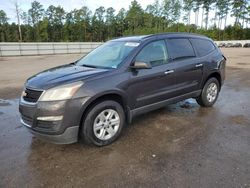
<instances>
[{"instance_id":1,"label":"rear wheel and tire of the gray SUV","mask_svg":"<svg viewBox=\"0 0 250 188\"><path fill-rule=\"evenodd\" d=\"M216 78L210 78L204 85L201 95L196 99L202 107L211 107L217 101L220 92L220 84Z\"/></svg>"}]
</instances>

